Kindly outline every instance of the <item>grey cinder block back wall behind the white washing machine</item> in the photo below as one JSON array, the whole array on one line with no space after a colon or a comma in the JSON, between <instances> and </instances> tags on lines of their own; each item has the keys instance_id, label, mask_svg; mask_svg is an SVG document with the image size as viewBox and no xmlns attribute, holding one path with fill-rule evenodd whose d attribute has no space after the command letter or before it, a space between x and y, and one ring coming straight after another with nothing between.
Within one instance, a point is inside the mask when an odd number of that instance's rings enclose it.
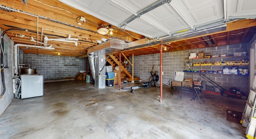
<instances>
[{"instance_id":1,"label":"grey cinder block back wall behind the white washing machine","mask_svg":"<svg viewBox=\"0 0 256 139\"><path fill-rule=\"evenodd\" d=\"M36 67L37 73L44 75L44 80L75 77L81 70L86 70L86 64L88 70L90 69L87 58L55 55L25 54L25 63Z\"/></svg>"}]
</instances>

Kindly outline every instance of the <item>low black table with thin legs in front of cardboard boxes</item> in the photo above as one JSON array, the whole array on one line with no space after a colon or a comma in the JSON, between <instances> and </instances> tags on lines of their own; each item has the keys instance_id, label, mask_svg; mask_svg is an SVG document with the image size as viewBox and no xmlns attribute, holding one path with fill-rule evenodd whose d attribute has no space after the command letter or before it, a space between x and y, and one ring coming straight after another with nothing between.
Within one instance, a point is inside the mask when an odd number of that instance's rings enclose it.
<instances>
[{"instance_id":1,"label":"low black table with thin legs in front of cardboard boxes","mask_svg":"<svg viewBox=\"0 0 256 139\"><path fill-rule=\"evenodd\" d=\"M193 87L172 86L172 90L178 90L178 92L180 92L180 98L181 98L182 92L193 93L193 97L191 98L191 100L194 100L197 96L200 104L202 104L200 98L202 98L203 102L205 102L204 98L202 96L202 93L201 93L202 92L201 88L202 88L202 86L193 86ZM173 94L173 92L172 92L172 94Z\"/></svg>"}]
</instances>

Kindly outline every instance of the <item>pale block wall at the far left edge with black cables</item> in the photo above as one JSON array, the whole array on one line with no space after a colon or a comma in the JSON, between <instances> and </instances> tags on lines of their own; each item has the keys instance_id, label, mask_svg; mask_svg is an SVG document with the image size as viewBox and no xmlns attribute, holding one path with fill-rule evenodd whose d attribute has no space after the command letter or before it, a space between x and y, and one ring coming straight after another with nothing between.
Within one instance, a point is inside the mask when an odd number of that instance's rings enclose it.
<instances>
[{"instance_id":1,"label":"pale block wall at the far left edge with black cables","mask_svg":"<svg viewBox=\"0 0 256 139\"><path fill-rule=\"evenodd\" d=\"M11 55L12 55L12 46L11 46L11 40L9 37L4 35L4 41L6 41L5 45L7 45L7 57L6 58L6 68L2 70L4 72L4 81L5 81L5 93L0 99L0 115L4 112L4 110L8 107L8 105L12 102L14 99L14 94L12 93L12 63L11 63ZM2 52L1 52L2 53ZM2 86L2 78L0 78L0 90L2 93L3 86ZM0 93L0 94L1 94Z\"/></svg>"}]
</instances>

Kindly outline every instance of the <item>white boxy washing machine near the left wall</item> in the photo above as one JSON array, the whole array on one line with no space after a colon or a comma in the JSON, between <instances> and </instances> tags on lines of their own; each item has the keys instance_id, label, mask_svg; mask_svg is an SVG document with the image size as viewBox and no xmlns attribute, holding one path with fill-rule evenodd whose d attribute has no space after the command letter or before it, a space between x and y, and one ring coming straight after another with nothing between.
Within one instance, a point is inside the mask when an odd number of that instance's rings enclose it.
<instances>
[{"instance_id":1,"label":"white boxy washing machine near the left wall","mask_svg":"<svg viewBox=\"0 0 256 139\"><path fill-rule=\"evenodd\" d=\"M22 74L21 99L44 95L44 76L40 74Z\"/></svg>"}]
</instances>

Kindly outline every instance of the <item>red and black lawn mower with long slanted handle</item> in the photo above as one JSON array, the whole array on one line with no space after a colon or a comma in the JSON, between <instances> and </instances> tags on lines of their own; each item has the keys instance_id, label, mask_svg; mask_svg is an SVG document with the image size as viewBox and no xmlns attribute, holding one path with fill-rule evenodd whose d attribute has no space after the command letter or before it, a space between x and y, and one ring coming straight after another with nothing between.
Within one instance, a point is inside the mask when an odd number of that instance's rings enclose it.
<instances>
[{"instance_id":1,"label":"red and black lawn mower with long slanted handle","mask_svg":"<svg viewBox=\"0 0 256 139\"><path fill-rule=\"evenodd\" d=\"M205 80L207 80L208 82L210 82L212 85L214 85L216 88L220 89L220 94L222 96L230 96L230 97L235 97L235 98L241 98L243 100L247 99L247 96L245 96L245 94L243 92L240 92L240 90L238 88L232 87L228 90L222 88L221 86L219 86L216 82L212 81L210 78L206 77L204 74L200 74L200 76L202 78L204 78Z\"/></svg>"}]
</instances>

